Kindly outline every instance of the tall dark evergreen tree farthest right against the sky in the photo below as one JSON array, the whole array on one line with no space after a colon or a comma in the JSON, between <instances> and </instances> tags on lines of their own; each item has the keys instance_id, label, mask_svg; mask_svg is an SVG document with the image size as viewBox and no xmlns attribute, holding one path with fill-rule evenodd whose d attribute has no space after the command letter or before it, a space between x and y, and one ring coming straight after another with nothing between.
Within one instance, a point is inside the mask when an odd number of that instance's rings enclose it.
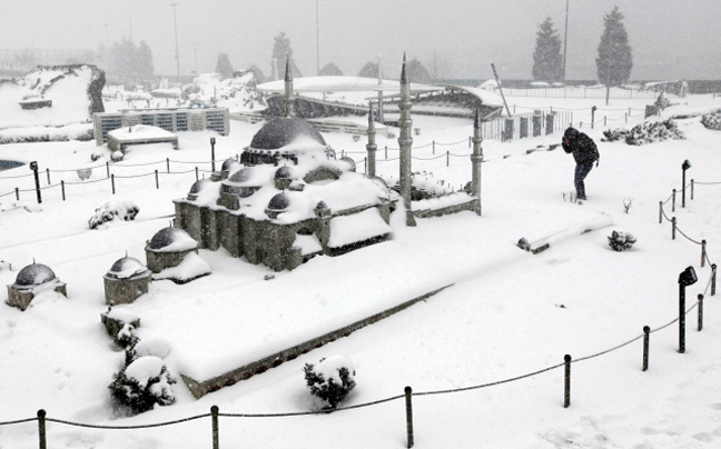
<instances>
[{"instance_id":1,"label":"tall dark evergreen tree farthest right against the sky","mask_svg":"<svg viewBox=\"0 0 721 449\"><path fill-rule=\"evenodd\" d=\"M629 44L629 33L622 22L623 14L619 7L603 18L603 34L599 43L596 70L599 81L611 88L628 82L633 68L633 57ZM608 102L608 99L606 99Z\"/></svg>"}]
</instances>

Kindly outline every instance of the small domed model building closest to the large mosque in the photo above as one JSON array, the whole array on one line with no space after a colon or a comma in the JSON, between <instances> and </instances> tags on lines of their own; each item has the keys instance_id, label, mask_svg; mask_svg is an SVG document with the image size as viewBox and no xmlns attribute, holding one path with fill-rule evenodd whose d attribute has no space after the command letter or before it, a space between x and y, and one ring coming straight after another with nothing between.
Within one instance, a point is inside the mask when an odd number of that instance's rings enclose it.
<instances>
[{"instance_id":1,"label":"small domed model building closest to the large mosque","mask_svg":"<svg viewBox=\"0 0 721 449\"><path fill-rule=\"evenodd\" d=\"M198 256L198 242L180 228L164 228L145 248L152 279L190 282L210 275L210 267Z\"/></svg>"}]
</instances>

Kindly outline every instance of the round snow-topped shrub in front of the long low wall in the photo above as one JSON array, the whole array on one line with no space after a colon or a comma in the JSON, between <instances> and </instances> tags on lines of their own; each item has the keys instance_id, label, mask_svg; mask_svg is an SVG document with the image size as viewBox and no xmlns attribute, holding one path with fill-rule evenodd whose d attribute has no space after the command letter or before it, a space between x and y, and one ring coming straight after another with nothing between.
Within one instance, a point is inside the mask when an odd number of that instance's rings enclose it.
<instances>
[{"instance_id":1,"label":"round snow-topped shrub in front of the long low wall","mask_svg":"<svg viewBox=\"0 0 721 449\"><path fill-rule=\"evenodd\" d=\"M355 388L355 367L344 356L320 359L317 365L303 367L310 393L326 401L328 409L335 409Z\"/></svg>"}]
</instances>

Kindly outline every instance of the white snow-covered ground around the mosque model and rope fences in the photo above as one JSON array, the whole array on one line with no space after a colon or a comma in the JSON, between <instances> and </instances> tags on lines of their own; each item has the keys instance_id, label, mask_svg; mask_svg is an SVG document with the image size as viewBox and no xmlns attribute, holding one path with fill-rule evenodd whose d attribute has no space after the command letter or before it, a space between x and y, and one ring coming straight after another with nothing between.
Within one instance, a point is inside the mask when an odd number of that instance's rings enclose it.
<instances>
[{"instance_id":1,"label":"white snow-covered ground around the mosque model and rope fences","mask_svg":"<svg viewBox=\"0 0 721 449\"><path fill-rule=\"evenodd\" d=\"M106 310L102 276L127 253L145 261L146 240L168 226L171 200L185 197L210 169L208 139L216 138L218 160L243 151L261 123L233 122L228 137L210 132L180 133L170 144L130 147L122 162L111 163L116 194L106 178L106 147L95 142L6 144L0 159L38 161L42 190L38 204L27 166L0 172L0 283L11 285L33 259L48 265L68 285L68 298L43 295L32 307L0 305L0 448L34 448L37 422L49 418L92 426L137 426L209 413L295 413L315 402L305 387L303 366L323 357L347 356L356 368L356 389L342 407L364 405L414 392L453 390L511 378L521 379L467 391L418 395L414 401L416 448L695 448L721 439L721 306L704 302L704 327L697 332L697 309L687 320L687 351L678 353L678 276L693 266L699 282L687 289L688 307L707 291L709 266L700 267L701 247L671 225L659 223L659 201L681 189L681 164L692 163L694 198L675 211L679 229L695 241L708 240L709 258L721 255L721 133L707 130L700 117L679 120L687 140L631 147L601 142L602 131L625 123L599 123L604 112L624 114L628 127L640 121L649 100L612 100L599 106L596 124L587 126L599 100L510 98L518 108L553 106L573 109L574 122L599 143L601 164L586 180L589 201L564 201L573 190L573 159L549 151L560 134L512 143L484 141L483 216L471 212L421 219L404 227L392 217L394 238L329 258L317 257L298 269L274 273L263 266L233 259L225 251L200 250L213 275L177 286L156 281L150 293L126 309L141 318L141 340L165 340L170 372L198 358L197 367L225 366L235 358L265 356L267 348L303 341L381 311L438 287L451 286L409 309L347 338L288 361L278 368L194 399L181 381L177 402L131 418L113 413L107 386L122 367L124 353L100 323ZM673 113L711 111L721 101L711 96L673 98ZM110 109L110 108L109 108ZM604 111L609 109L609 111ZM612 110L611 110L612 109ZM620 112L619 112L620 111ZM523 111L518 111L523 112ZM613 116L615 118L615 116ZM471 178L464 139L471 122L414 116L413 168L433 172L458 189ZM618 120L618 119L616 119ZM624 119L623 119L624 120ZM397 132L395 132L397 136ZM363 139L324 134L363 171ZM436 142L461 142L455 146ZM378 148L395 139L378 137ZM539 151L527 153L541 146ZM447 153L446 153L447 151ZM92 153L103 158L92 162ZM168 174L170 171L184 174ZM421 158L423 160L421 160ZM378 154L378 172L397 176L397 161ZM159 162L159 163L151 163ZM218 162L218 167L219 167ZM448 167L446 167L446 164ZM92 167L80 181L76 169ZM67 170L67 171L63 171ZM158 170L159 189L156 189ZM207 174L207 173L206 173ZM66 181L62 201L60 180ZM709 182L702 183L702 182ZM14 188L21 191L14 199ZM10 192L11 194L4 194ZM689 192L687 192L689 194ZM139 206L135 221L89 230L93 211L112 199ZM631 200L628 213L624 201ZM602 227L612 222L613 225ZM592 232L582 230L591 226ZM613 230L638 242L626 252L608 246ZM562 233L556 233L562 232ZM521 238L549 239L539 255L518 249ZM12 265L12 270L9 265ZM266 280L268 275L275 278ZM0 296L4 300L4 295ZM641 340L572 365L571 407L563 407L564 355L597 355L651 333L650 368L643 372ZM205 351L207 350L207 352ZM207 355L207 357L204 357ZM525 375L554 369L524 377ZM401 448L406 445L402 398L329 415L290 417L221 417L220 445L264 448ZM210 418L135 430L106 430L48 423L49 447L175 448L211 443Z\"/></svg>"}]
</instances>

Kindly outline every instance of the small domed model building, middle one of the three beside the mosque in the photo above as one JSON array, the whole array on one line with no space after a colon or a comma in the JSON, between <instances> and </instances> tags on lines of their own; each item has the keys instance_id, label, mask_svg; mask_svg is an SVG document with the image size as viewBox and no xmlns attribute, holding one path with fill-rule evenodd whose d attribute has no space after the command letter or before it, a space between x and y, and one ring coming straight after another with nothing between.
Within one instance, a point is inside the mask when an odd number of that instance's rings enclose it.
<instances>
[{"instance_id":1,"label":"small domed model building, middle one of the three beside the mosque","mask_svg":"<svg viewBox=\"0 0 721 449\"><path fill-rule=\"evenodd\" d=\"M138 259L124 257L110 267L102 279L107 305L130 303L148 292L150 270Z\"/></svg>"}]
</instances>

